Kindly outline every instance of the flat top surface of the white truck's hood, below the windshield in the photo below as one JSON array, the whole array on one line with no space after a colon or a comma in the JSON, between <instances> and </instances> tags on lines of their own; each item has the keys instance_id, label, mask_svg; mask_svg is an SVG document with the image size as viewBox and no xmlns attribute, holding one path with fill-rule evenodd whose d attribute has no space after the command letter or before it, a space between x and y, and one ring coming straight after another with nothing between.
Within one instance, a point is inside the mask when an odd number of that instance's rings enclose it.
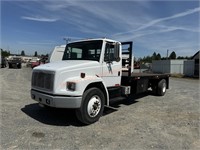
<instances>
[{"instance_id":1,"label":"flat top surface of the white truck's hood, below the windshield","mask_svg":"<svg viewBox=\"0 0 200 150\"><path fill-rule=\"evenodd\" d=\"M90 67L99 67L99 62L90 60L65 60L44 64L34 68L34 70L62 71L79 70ZM91 68L91 69L92 69Z\"/></svg>"}]
</instances>

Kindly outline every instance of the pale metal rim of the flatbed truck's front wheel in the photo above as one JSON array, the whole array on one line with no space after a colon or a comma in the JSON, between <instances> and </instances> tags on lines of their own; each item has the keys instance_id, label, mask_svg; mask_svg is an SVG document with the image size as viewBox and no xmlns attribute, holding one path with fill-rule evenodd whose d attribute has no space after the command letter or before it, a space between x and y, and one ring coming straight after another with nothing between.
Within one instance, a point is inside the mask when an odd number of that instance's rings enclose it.
<instances>
[{"instance_id":1,"label":"pale metal rim of the flatbed truck's front wheel","mask_svg":"<svg viewBox=\"0 0 200 150\"><path fill-rule=\"evenodd\" d=\"M101 110L101 99L99 96L93 96L87 106L87 112L90 117L96 117Z\"/></svg>"}]
</instances>

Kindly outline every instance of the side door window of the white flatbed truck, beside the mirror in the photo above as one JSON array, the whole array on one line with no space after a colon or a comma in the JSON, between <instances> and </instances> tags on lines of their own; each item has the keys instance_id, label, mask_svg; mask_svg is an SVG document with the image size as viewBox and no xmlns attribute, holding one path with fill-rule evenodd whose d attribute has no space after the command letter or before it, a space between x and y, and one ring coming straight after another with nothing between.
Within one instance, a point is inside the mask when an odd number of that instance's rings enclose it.
<instances>
[{"instance_id":1,"label":"side door window of the white flatbed truck, beside the mirror","mask_svg":"<svg viewBox=\"0 0 200 150\"><path fill-rule=\"evenodd\" d=\"M119 44L106 43L105 61L119 61Z\"/></svg>"}]
</instances>

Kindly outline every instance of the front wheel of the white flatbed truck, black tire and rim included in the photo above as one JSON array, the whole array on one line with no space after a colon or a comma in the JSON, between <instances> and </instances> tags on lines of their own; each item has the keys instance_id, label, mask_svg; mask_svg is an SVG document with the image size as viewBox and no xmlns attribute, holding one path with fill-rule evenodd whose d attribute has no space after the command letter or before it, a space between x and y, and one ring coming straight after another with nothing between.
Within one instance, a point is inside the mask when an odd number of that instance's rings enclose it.
<instances>
[{"instance_id":1,"label":"front wheel of the white flatbed truck, black tire and rim included","mask_svg":"<svg viewBox=\"0 0 200 150\"><path fill-rule=\"evenodd\" d=\"M84 124L92 124L103 114L105 97L98 88L90 88L83 94L82 105L76 110L76 117Z\"/></svg>"}]
</instances>

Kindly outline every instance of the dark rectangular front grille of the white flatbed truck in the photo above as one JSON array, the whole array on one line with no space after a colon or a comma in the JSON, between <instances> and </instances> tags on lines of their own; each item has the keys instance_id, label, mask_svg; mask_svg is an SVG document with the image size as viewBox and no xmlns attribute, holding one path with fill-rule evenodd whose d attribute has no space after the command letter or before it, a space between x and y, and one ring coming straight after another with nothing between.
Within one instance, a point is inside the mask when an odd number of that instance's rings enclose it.
<instances>
[{"instance_id":1,"label":"dark rectangular front grille of the white flatbed truck","mask_svg":"<svg viewBox=\"0 0 200 150\"><path fill-rule=\"evenodd\" d=\"M53 91L54 72L34 71L32 74L32 87Z\"/></svg>"}]
</instances>

